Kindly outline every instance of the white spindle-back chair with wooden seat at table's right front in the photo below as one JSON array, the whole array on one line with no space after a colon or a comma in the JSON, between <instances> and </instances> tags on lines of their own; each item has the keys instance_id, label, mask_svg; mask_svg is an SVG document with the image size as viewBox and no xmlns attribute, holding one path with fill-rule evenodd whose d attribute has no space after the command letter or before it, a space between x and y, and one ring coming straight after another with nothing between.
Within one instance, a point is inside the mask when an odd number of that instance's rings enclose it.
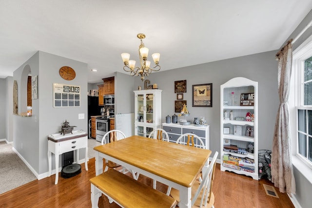
<instances>
[{"instance_id":1,"label":"white spindle-back chair with wooden seat at table's right front","mask_svg":"<svg viewBox=\"0 0 312 208\"><path fill-rule=\"evenodd\" d=\"M212 187L217 156L218 152L216 151L208 166L207 172L204 174L202 182L196 180L192 186L192 208L214 208L215 195L212 191ZM180 193L177 189L171 189L170 195L179 203Z\"/></svg>"}]
</instances>

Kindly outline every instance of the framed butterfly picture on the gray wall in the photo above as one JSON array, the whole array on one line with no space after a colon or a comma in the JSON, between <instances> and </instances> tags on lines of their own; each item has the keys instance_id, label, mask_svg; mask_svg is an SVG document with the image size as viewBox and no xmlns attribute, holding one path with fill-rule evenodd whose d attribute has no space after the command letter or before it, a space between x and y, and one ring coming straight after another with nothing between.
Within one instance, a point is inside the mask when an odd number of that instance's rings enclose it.
<instances>
[{"instance_id":1,"label":"framed butterfly picture on the gray wall","mask_svg":"<svg viewBox=\"0 0 312 208\"><path fill-rule=\"evenodd\" d=\"M213 107L213 84L196 84L193 88L193 107Z\"/></svg>"}]
</instances>

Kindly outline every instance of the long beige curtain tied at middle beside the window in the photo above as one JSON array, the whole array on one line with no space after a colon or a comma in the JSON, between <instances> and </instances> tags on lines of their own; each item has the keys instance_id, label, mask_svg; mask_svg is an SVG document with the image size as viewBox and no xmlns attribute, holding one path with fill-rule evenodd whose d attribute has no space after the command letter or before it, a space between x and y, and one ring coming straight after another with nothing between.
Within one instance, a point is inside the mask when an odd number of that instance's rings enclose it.
<instances>
[{"instance_id":1,"label":"long beige curtain tied at middle beside the window","mask_svg":"<svg viewBox=\"0 0 312 208\"><path fill-rule=\"evenodd\" d=\"M292 71L291 40L277 54L278 58L278 94L279 108L276 115L271 172L274 186L280 192L295 193L295 182L292 169L291 139L289 128L289 88Z\"/></svg>"}]
</instances>

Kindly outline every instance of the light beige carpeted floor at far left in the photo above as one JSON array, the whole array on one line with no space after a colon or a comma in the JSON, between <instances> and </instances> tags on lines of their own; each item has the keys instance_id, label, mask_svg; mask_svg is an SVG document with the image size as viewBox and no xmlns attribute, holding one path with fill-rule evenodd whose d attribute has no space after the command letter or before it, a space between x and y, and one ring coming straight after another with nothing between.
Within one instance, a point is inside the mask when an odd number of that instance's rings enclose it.
<instances>
[{"instance_id":1,"label":"light beige carpeted floor at far left","mask_svg":"<svg viewBox=\"0 0 312 208\"><path fill-rule=\"evenodd\" d=\"M36 176L12 150L12 145L0 142L0 194L34 180Z\"/></svg>"}]
</instances>

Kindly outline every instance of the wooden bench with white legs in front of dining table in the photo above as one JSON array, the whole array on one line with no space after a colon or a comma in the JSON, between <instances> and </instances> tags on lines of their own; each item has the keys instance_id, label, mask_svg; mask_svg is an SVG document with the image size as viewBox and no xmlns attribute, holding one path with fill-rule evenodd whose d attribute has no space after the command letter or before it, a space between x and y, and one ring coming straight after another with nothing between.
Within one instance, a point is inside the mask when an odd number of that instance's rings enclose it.
<instances>
[{"instance_id":1,"label":"wooden bench with white legs in front of dining table","mask_svg":"<svg viewBox=\"0 0 312 208\"><path fill-rule=\"evenodd\" d=\"M175 208L176 200L114 169L91 178L92 208L102 193L123 208Z\"/></svg>"}]
</instances>

